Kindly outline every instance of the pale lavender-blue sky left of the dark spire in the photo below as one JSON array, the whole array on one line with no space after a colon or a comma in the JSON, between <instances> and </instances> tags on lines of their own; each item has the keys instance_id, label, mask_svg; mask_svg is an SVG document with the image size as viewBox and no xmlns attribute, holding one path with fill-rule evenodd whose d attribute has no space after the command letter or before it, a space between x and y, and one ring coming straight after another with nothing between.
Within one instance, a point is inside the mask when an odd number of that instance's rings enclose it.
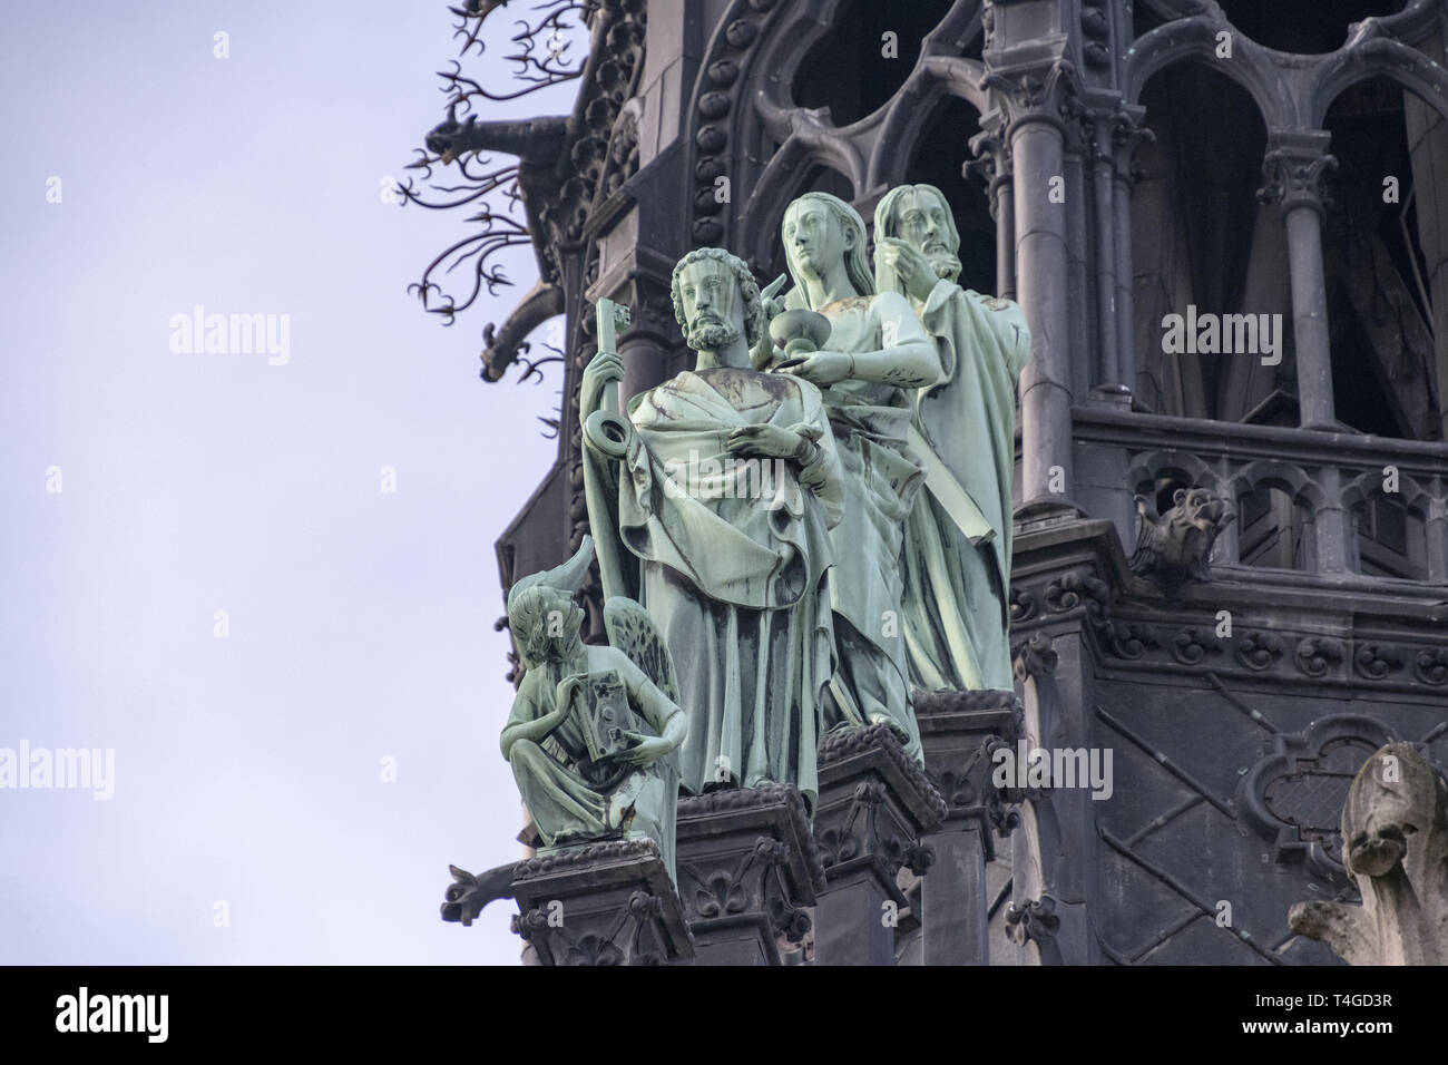
<instances>
[{"instance_id":1,"label":"pale lavender-blue sky left of the dark spire","mask_svg":"<svg viewBox=\"0 0 1448 1065\"><path fill-rule=\"evenodd\" d=\"M114 748L116 781L0 790L0 962L517 961L511 903L437 907L449 862L518 855L492 543L557 380L476 377L530 256L443 329L405 288L462 214L379 196L442 117L450 20L6 12L0 748ZM174 354L195 304L290 314L290 362Z\"/></svg>"}]
</instances>

